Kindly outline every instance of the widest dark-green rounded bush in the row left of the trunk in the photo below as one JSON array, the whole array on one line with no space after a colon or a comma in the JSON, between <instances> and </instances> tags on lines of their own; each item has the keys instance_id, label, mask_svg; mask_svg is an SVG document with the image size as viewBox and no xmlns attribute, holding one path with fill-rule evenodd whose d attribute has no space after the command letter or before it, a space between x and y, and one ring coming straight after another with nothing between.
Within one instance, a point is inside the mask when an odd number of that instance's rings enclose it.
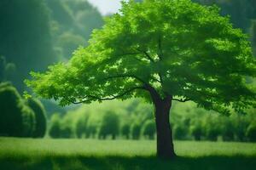
<instances>
[{"instance_id":1,"label":"widest dark-green rounded bush in the row left of the trunk","mask_svg":"<svg viewBox=\"0 0 256 170\"><path fill-rule=\"evenodd\" d=\"M102 117L102 125L99 130L99 138L106 139L108 135L115 139L119 134L119 116L111 111L108 111Z\"/></svg>"}]
</instances>

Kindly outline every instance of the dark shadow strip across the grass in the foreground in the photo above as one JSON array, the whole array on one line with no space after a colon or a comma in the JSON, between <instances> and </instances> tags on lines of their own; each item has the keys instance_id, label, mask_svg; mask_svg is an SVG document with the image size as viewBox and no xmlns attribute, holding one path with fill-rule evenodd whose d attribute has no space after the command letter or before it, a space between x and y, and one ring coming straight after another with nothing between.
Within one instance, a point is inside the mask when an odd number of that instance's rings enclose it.
<instances>
[{"instance_id":1,"label":"dark shadow strip across the grass in the foreground","mask_svg":"<svg viewBox=\"0 0 256 170\"><path fill-rule=\"evenodd\" d=\"M175 160L160 160L155 157L45 157L42 159L3 159L3 170L254 170L256 156L207 156L177 157Z\"/></svg>"}]
</instances>

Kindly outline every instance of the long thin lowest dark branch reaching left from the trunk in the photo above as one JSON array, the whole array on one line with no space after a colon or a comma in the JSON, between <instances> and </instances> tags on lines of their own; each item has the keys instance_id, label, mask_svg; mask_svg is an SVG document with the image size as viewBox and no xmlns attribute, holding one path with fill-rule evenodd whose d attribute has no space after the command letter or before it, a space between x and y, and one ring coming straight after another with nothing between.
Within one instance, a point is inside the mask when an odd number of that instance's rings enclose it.
<instances>
[{"instance_id":1,"label":"long thin lowest dark branch reaching left from the trunk","mask_svg":"<svg viewBox=\"0 0 256 170\"><path fill-rule=\"evenodd\" d=\"M93 100L93 99L97 99L97 100L100 100L100 101L105 101L105 100L113 100L113 99L118 99L118 98L121 98L123 96L125 96L126 94L130 94L132 91L136 90L136 89L146 89L145 87L135 87L135 88L130 88L129 90L126 90L124 93L122 94L118 94L118 95L112 95L113 97L107 97L107 98L100 98L100 97L97 97L97 96L94 96L94 95L87 95L84 97L83 100L81 101L73 101L72 103L73 104L82 104L84 102L87 102L87 101L90 101L90 100Z\"/></svg>"}]
</instances>

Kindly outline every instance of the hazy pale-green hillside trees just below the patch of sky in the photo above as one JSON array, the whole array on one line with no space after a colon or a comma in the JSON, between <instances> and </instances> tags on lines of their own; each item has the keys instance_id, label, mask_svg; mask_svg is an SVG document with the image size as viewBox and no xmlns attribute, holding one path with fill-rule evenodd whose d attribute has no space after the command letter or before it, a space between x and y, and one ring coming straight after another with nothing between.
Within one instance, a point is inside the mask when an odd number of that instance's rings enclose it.
<instances>
[{"instance_id":1,"label":"hazy pale-green hillside trees just below the patch of sky","mask_svg":"<svg viewBox=\"0 0 256 170\"><path fill-rule=\"evenodd\" d=\"M84 0L46 0L46 3L55 50L62 59L69 59L73 50L87 45L91 31L102 26L102 16Z\"/></svg>"}]
</instances>

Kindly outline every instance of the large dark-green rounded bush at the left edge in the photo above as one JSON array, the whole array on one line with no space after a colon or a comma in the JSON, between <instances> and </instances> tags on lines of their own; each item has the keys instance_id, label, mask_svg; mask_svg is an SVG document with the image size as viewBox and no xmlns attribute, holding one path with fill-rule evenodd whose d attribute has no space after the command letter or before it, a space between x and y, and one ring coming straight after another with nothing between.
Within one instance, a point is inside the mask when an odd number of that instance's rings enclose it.
<instances>
[{"instance_id":1,"label":"large dark-green rounded bush at the left edge","mask_svg":"<svg viewBox=\"0 0 256 170\"><path fill-rule=\"evenodd\" d=\"M0 84L0 134L30 137L35 128L34 112L24 104L16 88Z\"/></svg>"}]
</instances>

